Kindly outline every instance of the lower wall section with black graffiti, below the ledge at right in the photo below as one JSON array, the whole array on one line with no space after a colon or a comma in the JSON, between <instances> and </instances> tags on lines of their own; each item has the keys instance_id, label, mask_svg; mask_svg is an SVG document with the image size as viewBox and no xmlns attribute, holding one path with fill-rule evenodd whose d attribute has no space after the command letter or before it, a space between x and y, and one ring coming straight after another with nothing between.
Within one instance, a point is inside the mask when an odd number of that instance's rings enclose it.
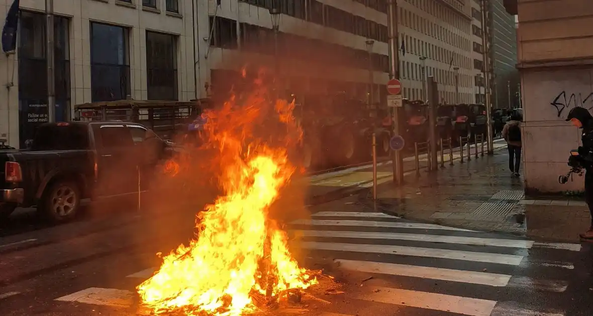
<instances>
[{"instance_id":1,"label":"lower wall section with black graffiti, below the ledge at right","mask_svg":"<svg viewBox=\"0 0 593 316\"><path fill-rule=\"evenodd\" d=\"M524 170L532 192L581 191L582 178L560 185L568 172L569 151L576 149L581 130L565 121L574 107L593 107L593 69L522 72L524 99Z\"/></svg>"}]
</instances>

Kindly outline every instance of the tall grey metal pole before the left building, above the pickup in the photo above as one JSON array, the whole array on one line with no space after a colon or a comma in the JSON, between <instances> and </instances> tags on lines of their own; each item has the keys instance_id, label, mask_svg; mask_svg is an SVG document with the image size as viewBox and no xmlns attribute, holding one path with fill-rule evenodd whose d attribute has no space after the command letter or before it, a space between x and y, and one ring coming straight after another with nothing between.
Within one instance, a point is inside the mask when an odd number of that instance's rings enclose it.
<instances>
[{"instance_id":1,"label":"tall grey metal pole before the left building, above the pickup","mask_svg":"<svg viewBox=\"0 0 593 316\"><path fill-rule=\"evenodd\" d=\"M56 121L56 84L54 75L54 33L53 33L53 0L45 0L46 14L46 56L47 56L47 121Z\"/></svg>"}]
</instances>

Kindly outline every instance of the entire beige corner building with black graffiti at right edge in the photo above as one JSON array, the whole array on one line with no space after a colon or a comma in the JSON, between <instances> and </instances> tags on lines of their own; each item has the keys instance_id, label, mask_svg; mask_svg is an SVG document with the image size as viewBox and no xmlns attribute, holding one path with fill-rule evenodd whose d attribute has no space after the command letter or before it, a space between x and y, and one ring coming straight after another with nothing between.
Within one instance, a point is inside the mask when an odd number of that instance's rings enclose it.
<instances>
[{"instance_id":1,"label":"entire beige corner building with black graffiti at right edge","mask_svg":"<svg viewBox=\"0 0 593 316\"><path fill-rule=\"evenodd\" d=\"M593 108L593 5L589 0L505 0L518 14L518 69L527 193L582 191L582 178L565 185L569 151L581 130L565 121L570 109Z\"/></svg>"}]
</instances>

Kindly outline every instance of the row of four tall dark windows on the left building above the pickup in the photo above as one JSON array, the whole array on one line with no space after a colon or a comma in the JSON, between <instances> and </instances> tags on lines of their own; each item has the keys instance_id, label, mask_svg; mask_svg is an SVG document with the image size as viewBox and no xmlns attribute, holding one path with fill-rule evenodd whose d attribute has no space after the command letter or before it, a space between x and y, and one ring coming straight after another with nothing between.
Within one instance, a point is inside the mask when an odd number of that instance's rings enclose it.
<instances>
[{"instance_id":1,"label":"row of four tall dark windows on the left building above the pickup","mask_svg":"<svg viewBox=\"0 0 593 316\"><path fill-rule=\"evenodd\" d=\"M69 20L56 17L56 98L69 99ZM46 82L45 17L21 11L19 25L19 96L44 99ZM90 23L91 99L113 101L130 95L129 28ZM146 31L148 99L177 99L177 37Z\"/></svg>"}]
</instances>

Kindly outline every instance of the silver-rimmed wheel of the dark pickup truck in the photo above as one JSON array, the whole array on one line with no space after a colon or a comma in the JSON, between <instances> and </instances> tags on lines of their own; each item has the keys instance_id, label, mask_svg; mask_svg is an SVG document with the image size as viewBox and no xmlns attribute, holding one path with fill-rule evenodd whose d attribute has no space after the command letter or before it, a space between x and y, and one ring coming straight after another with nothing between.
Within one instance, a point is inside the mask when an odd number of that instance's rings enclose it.
<instances>
[{"instance_id":1,"label":"silver-rimmed wheel of the dark pickup truck","mask_svg":"<svg viewBox=\"0 0 593 316\"><path fill-rule=\"evenodd\" d=\"M81 192L75 182L58 180L43 193L40 211L48 220L64 223L76 217L80 200Z\"/></svg>"}]
</instances>

